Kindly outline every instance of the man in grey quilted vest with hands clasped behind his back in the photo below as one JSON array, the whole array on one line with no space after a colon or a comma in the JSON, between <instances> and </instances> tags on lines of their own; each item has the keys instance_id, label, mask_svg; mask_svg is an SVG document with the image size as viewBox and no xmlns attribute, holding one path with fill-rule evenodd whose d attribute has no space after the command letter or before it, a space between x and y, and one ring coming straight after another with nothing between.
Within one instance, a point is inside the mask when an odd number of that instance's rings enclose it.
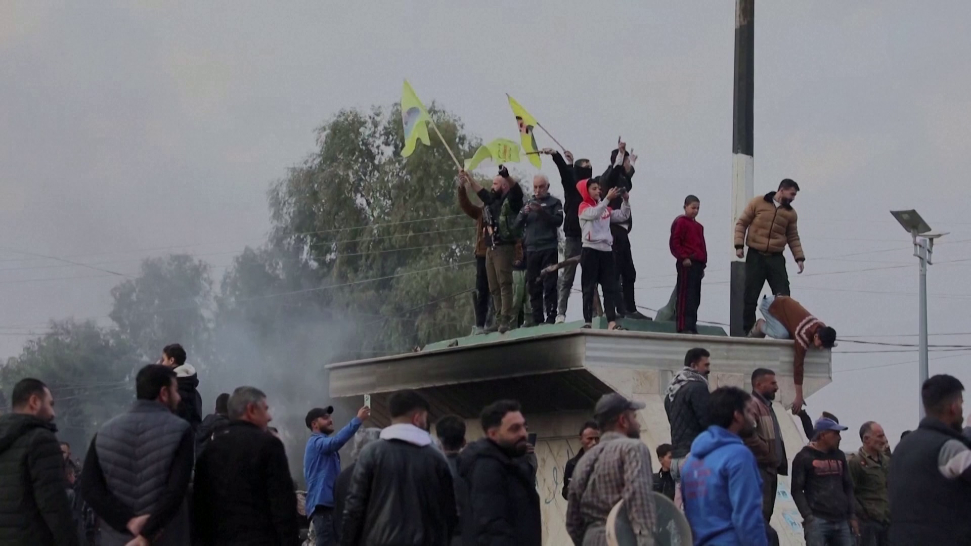
<instances>
[{"instance_id":1,"label":"man in grey quilted vest with hands clasped behind his back","mask_svg":"<svg viewBox=\"0 0 971 546\"><path fill-rule=\"evenodd\" d=\"M82 495L104 522L103 546L190 542L187 508L195 436L179 407L176 372L149 364L135 377L137 400L98 430L84 458Z\"/></svg>"}]
</instances>

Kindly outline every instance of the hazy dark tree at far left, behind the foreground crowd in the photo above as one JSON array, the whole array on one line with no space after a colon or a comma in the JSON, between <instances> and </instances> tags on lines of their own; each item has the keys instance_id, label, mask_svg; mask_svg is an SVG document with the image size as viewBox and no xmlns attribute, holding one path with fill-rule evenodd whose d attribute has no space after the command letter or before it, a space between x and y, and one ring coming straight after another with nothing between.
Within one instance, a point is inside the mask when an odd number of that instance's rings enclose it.
<instances>
[{"instance_id":1,"label":"hazy dark tree at far left, behind the foreground crowd","mask_svg":"<svg viewBox=\"0 0 971 546\"><path fill-rule=\"evenodd\" d=\"M84 445L97 427L134 399L134 376L145 362L115 330L92 321L51 322L50 332L28 341L18 357L0 368L4 392L34 377L54 395L59 435Z\"/></svg>"}]
</instances>

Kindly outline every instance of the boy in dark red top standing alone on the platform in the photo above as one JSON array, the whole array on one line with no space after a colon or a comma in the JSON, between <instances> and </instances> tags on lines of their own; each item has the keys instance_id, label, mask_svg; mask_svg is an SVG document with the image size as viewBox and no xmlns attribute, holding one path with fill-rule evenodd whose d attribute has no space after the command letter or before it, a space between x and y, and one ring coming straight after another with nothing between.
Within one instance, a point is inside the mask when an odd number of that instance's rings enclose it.
<instances>
[{"instance_id":1,"label":"boy in dark red top standing alone on the platform","mask_svg":"<svg viewBox=\"0 0 971 546\"><path fill-rule=\"evenodd\" d=\"M701 279L705 277L708 251L705 228L695 218L701 201L685 197L685 214L671 224L671 254L678 259L677 305L678 333L698 333L698 306L701 305Z\"/></svg>"}]
</instances>

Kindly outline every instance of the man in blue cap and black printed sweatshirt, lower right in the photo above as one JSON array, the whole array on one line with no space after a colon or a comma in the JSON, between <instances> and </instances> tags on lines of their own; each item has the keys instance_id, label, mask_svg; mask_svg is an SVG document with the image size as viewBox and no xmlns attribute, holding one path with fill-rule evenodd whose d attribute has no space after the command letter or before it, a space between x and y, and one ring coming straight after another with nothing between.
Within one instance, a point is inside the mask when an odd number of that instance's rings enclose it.
<instances>
[{"instance_id":1,"label":"man in blue cap and black printed sweatshirt, lower right","mask_svg":"<svg viewBox=\"0 0 971 546\"><path fill-rule=\"evenodd\" d=\"M846 429L832 419L818 420L813 441L792 460L792 500L802 515L806 546L853 546L859 535L853 479L840 451L840 432Z\"/></svg>"}]
</instances>

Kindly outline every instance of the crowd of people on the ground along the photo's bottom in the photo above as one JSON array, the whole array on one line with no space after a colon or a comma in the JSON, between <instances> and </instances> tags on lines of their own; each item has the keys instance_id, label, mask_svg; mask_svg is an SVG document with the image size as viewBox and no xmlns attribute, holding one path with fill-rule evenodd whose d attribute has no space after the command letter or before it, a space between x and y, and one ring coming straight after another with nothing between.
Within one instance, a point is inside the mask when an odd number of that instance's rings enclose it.
<instances>
[{"instance_id":1,"label":"crowd of people on the ground along the photo's bottom","mask_svg":"<svg viewBox=\"0 0 971 546\"><path fill-rule=\"evenodd\" d=\"M785 324L785 323L781 323ZM466 421L441 417L419 392L392 393L390 425L363 427L365 406L344 427L332 406L311 409L305 494L296 491L264 392L220 394L202 419L195 374L181 346L135 377L131 408L100 427L80 475L58 443L50 389L23 379L13 412L0 416L0 543L46 545L539 545L536 439L519 402L481 414L481 439ZM656 503L684 510L693 542L768 545L779 476L802 516L809 546L963 544L971 537L971 428L962 430L963 386L937 375L922 387L927 417L890 455L879 424L859 427L860 449L840 450L848 427L793 410L809 438L789 460L773 401L771 369L753 371L752 392L711 391L711 355L692 349L664 392L670 443L641 440L643 402L603 395L566 462L562 495L574 544L607 544L622 501L638 545L663 544ZM187 379L191 377L191 379ZM185 403L188 400L190 403ZM354 440L352 462L341 449ZM613 524L611 524L613 525Z\"/></svg>"}]
</instances>

